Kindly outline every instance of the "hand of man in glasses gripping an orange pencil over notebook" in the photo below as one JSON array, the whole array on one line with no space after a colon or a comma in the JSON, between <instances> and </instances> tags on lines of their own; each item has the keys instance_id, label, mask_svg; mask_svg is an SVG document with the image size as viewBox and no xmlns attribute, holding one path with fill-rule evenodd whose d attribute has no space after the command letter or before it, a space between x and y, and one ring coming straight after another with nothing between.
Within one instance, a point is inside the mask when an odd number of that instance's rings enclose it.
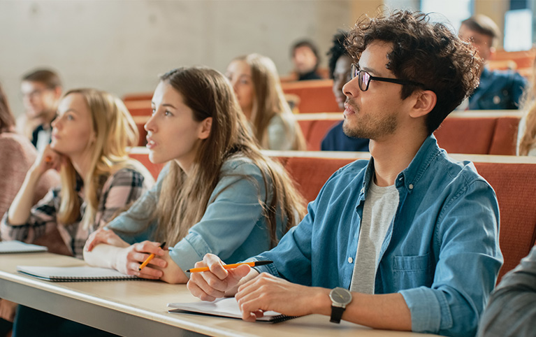
<instances>
[{"instance_id":1,"label":"hand of man in glasses gripping an orange pencil over notebook","mask_svg":"<svg viewBox=\"0 0 536 337\"><path fill-rule=\"evenodd\" d=\"M231 296L236 292L238 282L242 278L248 275L246 280L249 280L259 275L247 264L233 269L224 269L223 261L214 254L205 254L203 261L196 262L195 268L206 266L210 268L210 271L191 273L187 283L191 294L203 301L214 301L219 297Z\"/></svg>"}]
</instances>

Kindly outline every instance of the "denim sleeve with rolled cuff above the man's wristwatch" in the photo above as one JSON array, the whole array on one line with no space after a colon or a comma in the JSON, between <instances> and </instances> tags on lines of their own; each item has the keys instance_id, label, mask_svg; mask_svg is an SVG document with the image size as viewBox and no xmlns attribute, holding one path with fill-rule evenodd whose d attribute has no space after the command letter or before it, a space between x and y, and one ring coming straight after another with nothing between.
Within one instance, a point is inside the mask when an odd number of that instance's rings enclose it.
<instances>
[{"instance_id":1,"label":"denim sleeve with rolled cuff above the man's wristwatch","mask_svg":"<svg viewBox=\"0 0 536 337\"><path fill-rule=\"evenodd\" d=\"M445 203L436 224L441 245L433 284L400 291L413 331L475 336L502 266L498 224L495 192L483 180L466 185Z\"/></svg>"}]
</instances>

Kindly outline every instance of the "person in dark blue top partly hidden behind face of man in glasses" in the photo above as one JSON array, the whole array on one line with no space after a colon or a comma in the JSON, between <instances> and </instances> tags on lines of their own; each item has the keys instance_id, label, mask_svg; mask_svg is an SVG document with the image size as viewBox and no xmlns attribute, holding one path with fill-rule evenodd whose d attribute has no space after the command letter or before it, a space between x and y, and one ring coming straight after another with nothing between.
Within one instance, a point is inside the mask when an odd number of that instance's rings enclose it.
<instances>
[{"instance_id":1,"label":"person in dark blue top partly hidden behind face of man in glasses","mask_svg":"<svg viewBox=\"0 0 536 337\"><path fill-rule=\"evenodd\" d=\"M328 51L330 55L328 66L331 78L333 78L333 94L341 111L345 110L346 96L342 92L342 86L350 78L350 66L352 57L345 48L348 32L340 31L333 36L333 46ZM368 139L353 138L345 134L342 129L344 120L332 127L321 143L323 151L368 151Z\"/></svg>"}]
</instances>

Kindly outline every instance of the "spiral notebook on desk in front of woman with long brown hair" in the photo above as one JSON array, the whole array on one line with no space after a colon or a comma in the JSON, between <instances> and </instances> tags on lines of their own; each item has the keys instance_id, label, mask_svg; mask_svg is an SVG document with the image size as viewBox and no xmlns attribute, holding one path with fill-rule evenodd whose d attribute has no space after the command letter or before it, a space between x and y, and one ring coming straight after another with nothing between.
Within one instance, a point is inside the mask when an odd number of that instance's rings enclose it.
<instances>
[{"instance_id":1,"label":"spiral notebook on desk in front of woman with long brown hair","mask_svg":"<svg viewBox=\"0 0 536 337\"><path fill-rule=\"evenodd\" d=\"M17 271L41 280L55 282L141 280L134 275L124 275L108 268L17 266Z\"/></svg>"}]
</instances>

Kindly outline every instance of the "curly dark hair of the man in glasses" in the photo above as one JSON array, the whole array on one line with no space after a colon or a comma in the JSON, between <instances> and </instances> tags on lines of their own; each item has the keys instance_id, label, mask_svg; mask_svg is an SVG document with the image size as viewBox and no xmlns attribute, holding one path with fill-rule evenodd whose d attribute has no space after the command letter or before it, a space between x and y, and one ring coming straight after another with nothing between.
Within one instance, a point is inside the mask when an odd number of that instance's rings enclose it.
<instances>
[{"instance_id":1,"label":"curly dark hair of the man in glasses","mask_svg":"<svg viewBox=\"0 0 536 337\"><path fill-rule=\"evenodd\" d=\"M397 10L374 18L363 16L349 33L347 50L357 62L374 41L392 43L386 69L396 78L422 83L435 92L437 103L426 117L428 134L479 85L482 60L475 48L444 24L430 22L425 13ZM404 85L401 98L423 87Z\"/></svg>"}]
</instances>

